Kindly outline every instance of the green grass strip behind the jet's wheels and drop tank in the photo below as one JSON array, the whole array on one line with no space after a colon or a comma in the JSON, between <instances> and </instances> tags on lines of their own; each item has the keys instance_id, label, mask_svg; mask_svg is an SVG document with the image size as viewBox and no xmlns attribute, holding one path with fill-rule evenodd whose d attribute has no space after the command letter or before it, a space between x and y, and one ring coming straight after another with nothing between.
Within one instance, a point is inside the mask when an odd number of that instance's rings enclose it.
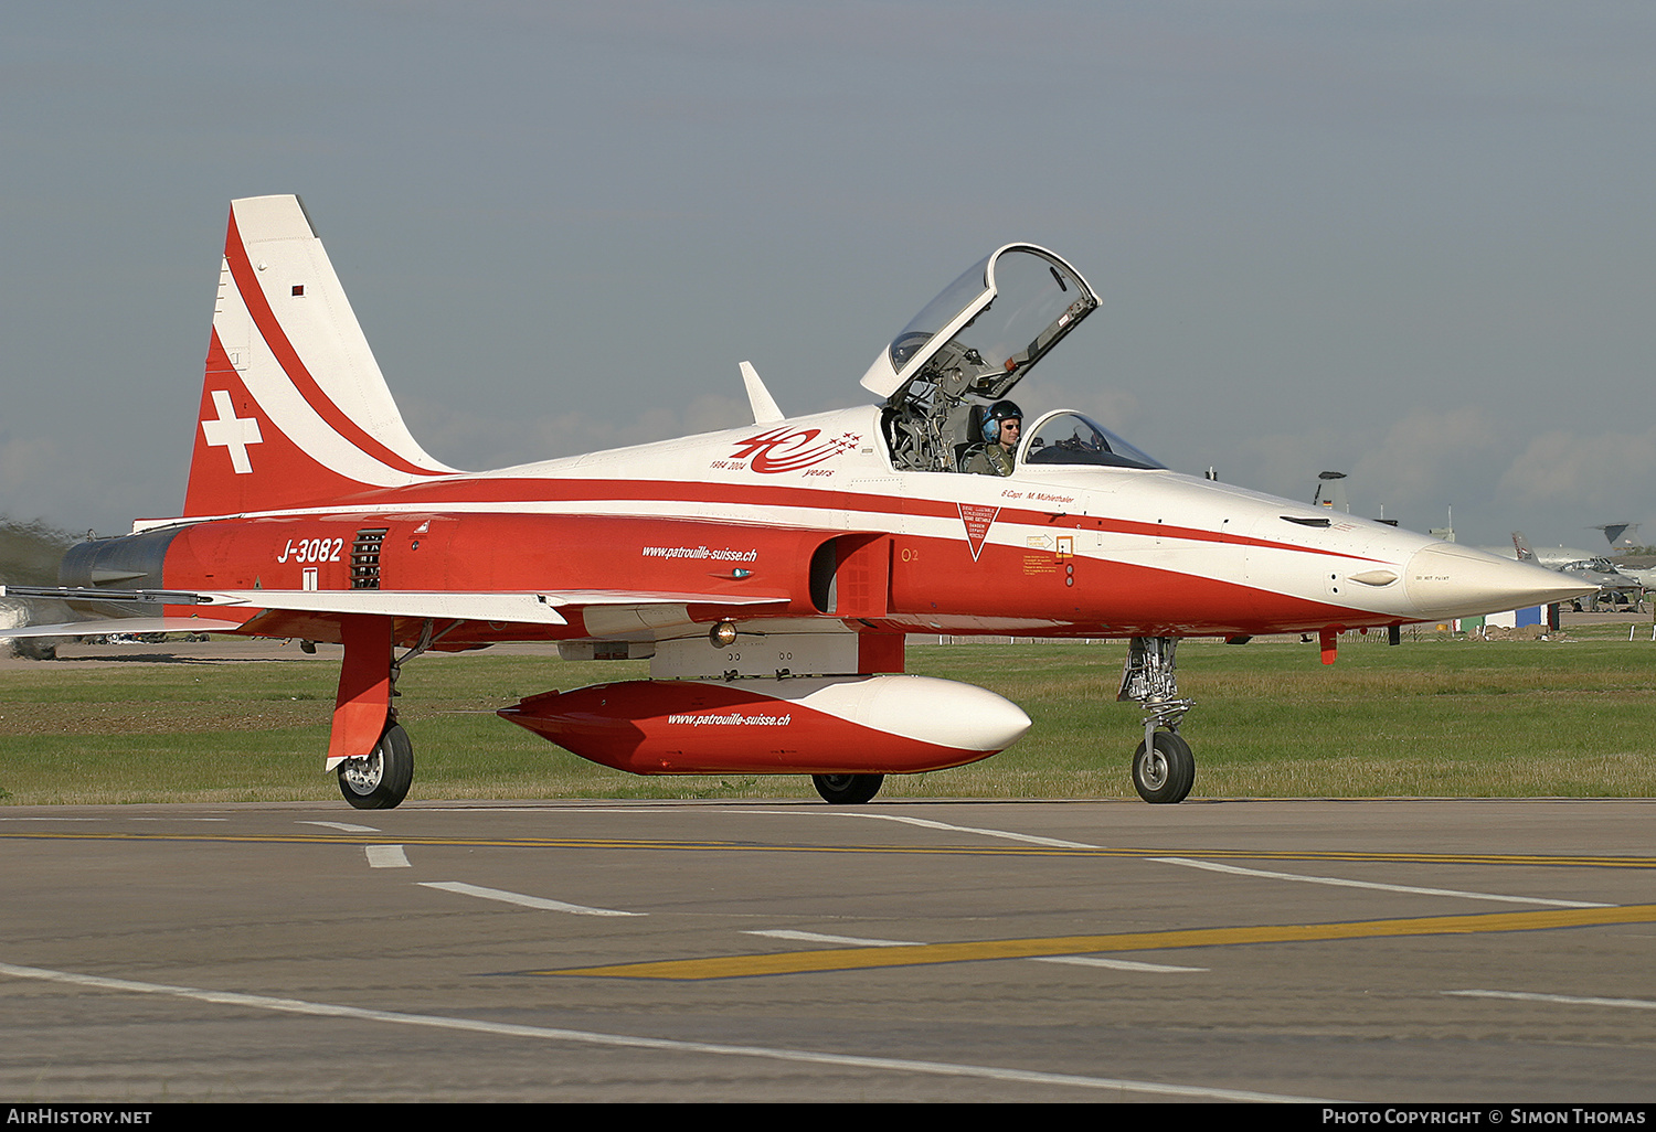
<instances>
[{"instance_id":1,"label":"green grass strip behind the jet's wheels and drop tank","mask_svg":"<svg viewBox=\"0 0 1656 1132\"><path fill-rule=\"evenodd\" d=\"M1625 634L1625 629L1620 632ZM1196 700L1192 798L1638 798L1656 794L1656 644L1206 640L1179 650ZM893 776L881 798L1131 798L1138 710L1116 703L1124 642L924 644L912 672L992 688L1035 727L1010 751ZM282 660L41 662L0 672L0 803L338 798L323 775L338 650ZM644 662L426 655L402 674L421 798L813 798L803 776L636 778L495 708L548 688L644 679Z\"/></svg>"}]
</instances>

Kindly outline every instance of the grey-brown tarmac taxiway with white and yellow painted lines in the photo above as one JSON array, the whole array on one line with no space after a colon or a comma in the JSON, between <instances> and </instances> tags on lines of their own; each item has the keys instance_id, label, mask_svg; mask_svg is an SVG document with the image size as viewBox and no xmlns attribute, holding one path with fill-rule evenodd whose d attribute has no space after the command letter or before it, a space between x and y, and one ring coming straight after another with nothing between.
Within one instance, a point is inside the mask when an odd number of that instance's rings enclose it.
<instances>
[{"instance_id":1,"label":"grey-brown tarmac taxiway with white and yellow painted lines","mask_svg":"<svg viewBox=\"0 0 1656 1132\"><path fill-rule=\"evenodd\" d=\"M1656 801L0 809L8 1101L1651 1101Z\"/></svg>"}]
</instances>

